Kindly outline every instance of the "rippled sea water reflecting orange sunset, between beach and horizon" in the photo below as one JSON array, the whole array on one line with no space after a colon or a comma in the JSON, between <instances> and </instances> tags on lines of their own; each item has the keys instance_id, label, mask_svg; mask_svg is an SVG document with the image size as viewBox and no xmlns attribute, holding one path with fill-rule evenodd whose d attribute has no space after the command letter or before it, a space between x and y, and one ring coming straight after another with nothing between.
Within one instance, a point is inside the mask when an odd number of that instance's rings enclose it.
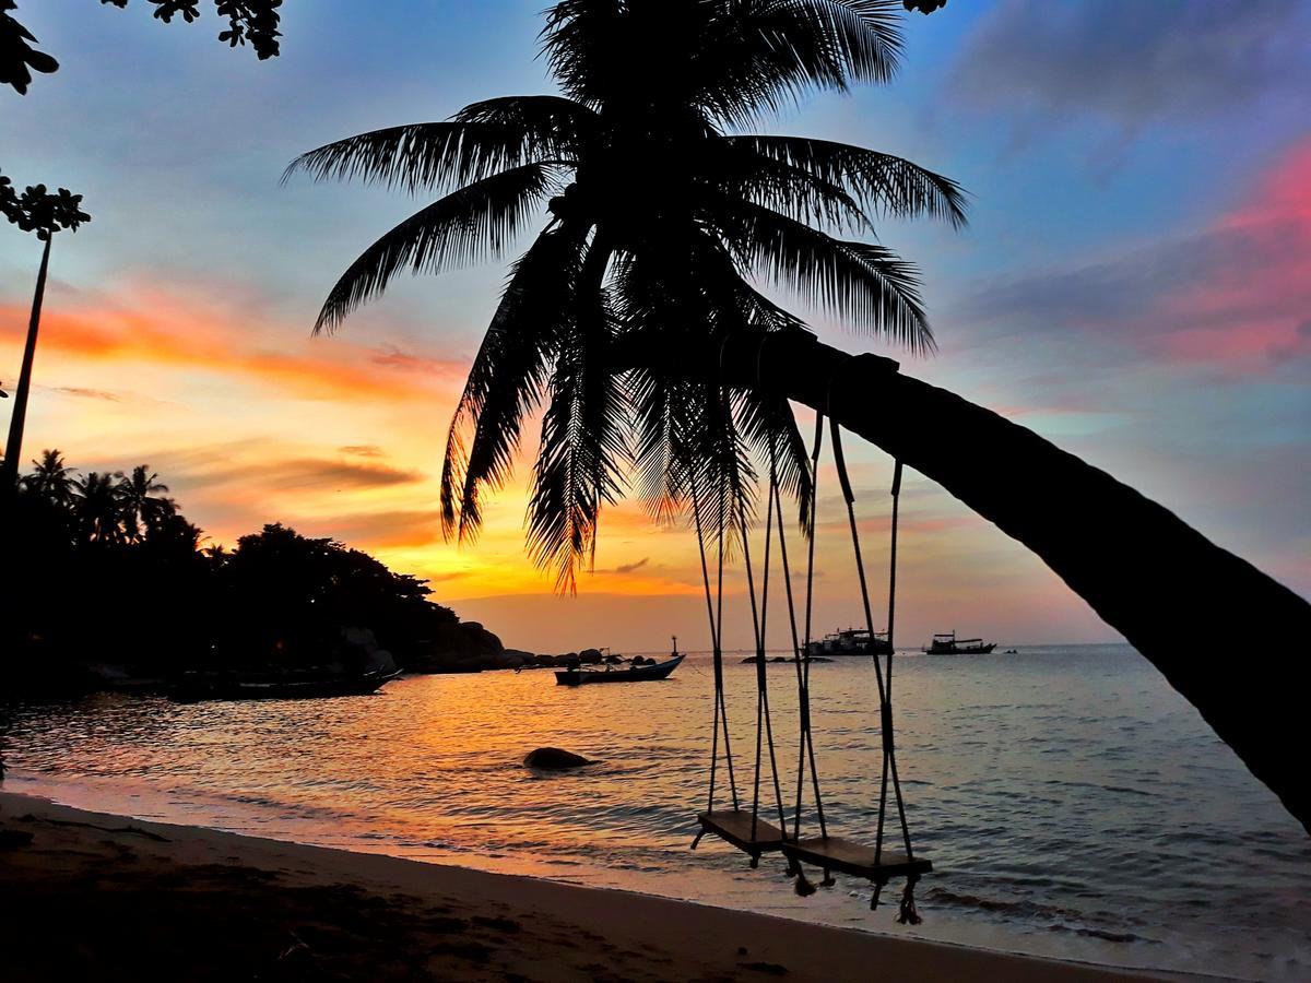
<instances>
[{"instance_id":1,"label":"rippled sea water reflecting orange sunset, between beach and horizon","mask_svg":"<svg viewBox=\"0 0 1311 983\"><path fill-rule=\"evenodd\" d=\"M755 670L730 663L743 782ZM794 680L770 667L785 798ZM5 788L73 806L1015 952L1311 979L1311 840L1131 649L907 655L895 685L911 828L935 865L914 929L894 904L871 912L864 882L802 899L777 858L751 870L722 843L688 849L709 756L705 655L644 685L496 672L343 700L0 706L0 741ZM815 665L812 687L830 830L872 836L872 667ZM541 744L600 763L523 768Z\"/></svg>"}]
</instances>

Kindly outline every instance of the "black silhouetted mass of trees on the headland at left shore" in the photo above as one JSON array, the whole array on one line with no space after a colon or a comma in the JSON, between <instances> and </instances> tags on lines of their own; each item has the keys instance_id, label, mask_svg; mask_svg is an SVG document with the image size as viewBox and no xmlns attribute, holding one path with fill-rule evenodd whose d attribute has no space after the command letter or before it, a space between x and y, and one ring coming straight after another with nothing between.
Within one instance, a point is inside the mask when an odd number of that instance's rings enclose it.
<instances>
[{"instance_id":1,"label":"black silhouetted mass of trees on the headland at left shore","mask_svg":"<svg viewBox=\"0 0 1311 983\"><path fill-rule=\"evenodd\" d=\"M80 474L58 450L31 463L5 511L14 522L0 565L0 653L20 689L77 689L89 662L160 676L349 662L359 650L345 628L372 630L401 665L422 667L461 638L416 577L278 523L233 549L205 547L165 492L147 464Z\"/></svg>"}]
</instances>

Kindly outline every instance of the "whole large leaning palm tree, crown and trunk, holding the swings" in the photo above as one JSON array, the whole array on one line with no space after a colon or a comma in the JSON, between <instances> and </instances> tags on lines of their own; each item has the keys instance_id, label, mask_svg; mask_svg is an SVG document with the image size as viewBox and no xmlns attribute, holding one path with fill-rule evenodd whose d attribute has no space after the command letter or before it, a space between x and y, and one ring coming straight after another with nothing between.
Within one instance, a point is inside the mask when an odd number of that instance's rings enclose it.
<instances>
[{"instance_id":1,"label":"whole large leaning palm tree, crown and trunk, holding the swings","mask_svg":"<svg viewBox=\"0 0 1311 983\"><path fill-rule=\"evenodd\" d=\"M881 212L960 224L956 185L873 151L738 132L809 88L890 77L893 5L556 4L543 39L562 96L473 104L443 123L328 144L288 168L444 193L347 269L316 330L340 326L405 269L503 254L545 206L552 218L511 269L451 425L450 531L477 531L480 492L506 480L523 417L544 405L530 548L572 587L629 465L653 510L707 488L722 510L747 505L747 451L763 451L783 459L804 502L785 400L808 404L1037 552L1311 828L1311 793L1290 760L1302 742L1298 688L1265 687L1193 638L1234 611L1277 651L1311 637L1311 606L1030 431L889 359L821 345L756 290L781 284L857 329L932 346L914 270L839 236L867 232Z\"/></svg>"}]
</instances>

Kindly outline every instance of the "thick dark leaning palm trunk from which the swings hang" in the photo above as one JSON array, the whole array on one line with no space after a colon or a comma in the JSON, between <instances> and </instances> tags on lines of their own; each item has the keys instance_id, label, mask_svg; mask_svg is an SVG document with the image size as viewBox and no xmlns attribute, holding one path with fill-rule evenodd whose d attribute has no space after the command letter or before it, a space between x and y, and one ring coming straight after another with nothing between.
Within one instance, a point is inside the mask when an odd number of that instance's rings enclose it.
<instances>
[{"instance_id":1,"label":"thick dark leaning palm trunk from which the swings hang","mask_svg":"<svg viewBox=\"0 0 1311 983\"><path fill-rule=\"evenodd\" d=\"M1295 682L1311 645L1303 598L1104 471L890 359L781 336L762 347L755 336L730 339L716 362L729 383L827 413L1042 557L1311 832Z\"/></svg>"}]
</instances>

